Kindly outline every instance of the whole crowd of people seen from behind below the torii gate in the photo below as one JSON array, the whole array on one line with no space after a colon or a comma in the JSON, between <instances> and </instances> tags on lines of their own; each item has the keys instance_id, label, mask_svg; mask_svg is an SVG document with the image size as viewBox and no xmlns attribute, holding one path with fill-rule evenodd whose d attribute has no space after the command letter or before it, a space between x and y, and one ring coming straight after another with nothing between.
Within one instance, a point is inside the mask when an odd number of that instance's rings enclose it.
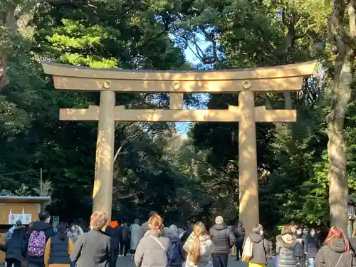
<instances>
[{"instance_id":1,"label":"whole crowd of people seen from behind below the torii gate","mask_svg":"<svg viewBox=\"0 0 356 267\"><path fill-rule=\"evenodd\" d=\"M118 256L130 251L136 267L227 267L229 253L236 246L236 261L249 267L265 267L271 246L263 226L256 224L245 236L241 222L227 226L217 216L207 231L202 222L187 221L184 229L164 226L162 217L151 211L140 225L135 219L127 226L109 223L104 211L90 216L90 226L59 223L53 229L48 211L27 228L16 221L0 250L6 252L8 267L116 267ZM355 238L350 241L341 229L332 227L323 244L315 229L286 225L276 236L276 267L356 267Z\"/></svg>"}]
</instances>

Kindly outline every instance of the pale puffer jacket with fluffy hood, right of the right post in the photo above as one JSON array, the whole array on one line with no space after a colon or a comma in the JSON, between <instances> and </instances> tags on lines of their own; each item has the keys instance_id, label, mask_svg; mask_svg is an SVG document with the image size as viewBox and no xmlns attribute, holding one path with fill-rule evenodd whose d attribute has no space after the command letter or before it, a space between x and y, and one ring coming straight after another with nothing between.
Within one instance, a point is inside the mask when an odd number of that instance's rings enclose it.
<instances>
[{"instance_id":1,"label":"pale puffer jacket with fluffy hood, right of the right post","mask_svg":"<svg viewBox=\"0 0 356 267\"><path fill-rule=\"evenodd\" d=\"M278 267L296 267L297 261L294 247L297 242L295 236L285 234L276 238L276 253L278 254Z\"/></svg>"}]
</instances>

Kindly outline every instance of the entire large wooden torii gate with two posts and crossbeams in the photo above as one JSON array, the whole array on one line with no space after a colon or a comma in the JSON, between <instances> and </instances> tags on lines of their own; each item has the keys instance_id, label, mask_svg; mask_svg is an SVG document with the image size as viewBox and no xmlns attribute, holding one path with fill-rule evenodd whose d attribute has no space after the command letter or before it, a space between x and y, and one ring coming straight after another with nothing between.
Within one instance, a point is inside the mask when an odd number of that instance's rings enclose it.
<instances>
[{"instance_id":1,"label":"entire large wooden torii gate with two posts and crossbeams","mask_svg":"<svg viewBox=\"0 0 356 267\"><path fill-rule=\"evenodd\" d=\"M98 120L93 210L112 209L115 121L239 122L239 213L246 231L259 222L256 122L295 122L295 110L255 107L255 92L297 91L316 61L242 70L119 70L43 64L56 89L100 91L100 106L61 109L60 120ZM169 93L169 109L115 106L115 93ZM184 93L239 93L227 110L183 110Z\"/></svg>"}]
</instances>

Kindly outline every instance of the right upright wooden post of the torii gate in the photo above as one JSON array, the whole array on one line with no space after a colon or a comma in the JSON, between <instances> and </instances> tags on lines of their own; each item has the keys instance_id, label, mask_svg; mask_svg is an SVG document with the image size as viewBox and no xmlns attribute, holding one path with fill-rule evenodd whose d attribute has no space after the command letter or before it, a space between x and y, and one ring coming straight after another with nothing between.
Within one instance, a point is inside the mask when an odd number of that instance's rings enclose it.
<instances>
[{"instance_id":1,"label":"right upright wooden post of the torii gate","mask_svg":"<svg viewBox=\"0 0 356 267\"><path fill-rule=\"evenodd\" d=\"M255 95L253 91L239 93L239 214L246 232L258 224L258 184L256 153ZM248 229L249 228L249 229Z\"/></svg>"}]
</instances>

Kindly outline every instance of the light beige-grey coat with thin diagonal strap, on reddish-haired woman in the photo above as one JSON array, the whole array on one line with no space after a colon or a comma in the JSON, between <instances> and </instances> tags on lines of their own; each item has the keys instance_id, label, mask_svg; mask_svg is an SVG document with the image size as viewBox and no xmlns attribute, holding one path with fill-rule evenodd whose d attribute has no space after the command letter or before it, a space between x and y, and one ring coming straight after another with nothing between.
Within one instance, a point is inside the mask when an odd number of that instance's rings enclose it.
<instances>
[{"instance_id":1,"label":"light beige-grey coat with thin diagonal strap, on reddish-haired woman","mask_svg":"<svg viewBox=\"0 0 356 267\"><path fill-rule=\"evenodd\" d=\"M166 267L170 260L171 250L169 239L149 230L136 248L135 266Z\"/></svg>"}]
</instances>

